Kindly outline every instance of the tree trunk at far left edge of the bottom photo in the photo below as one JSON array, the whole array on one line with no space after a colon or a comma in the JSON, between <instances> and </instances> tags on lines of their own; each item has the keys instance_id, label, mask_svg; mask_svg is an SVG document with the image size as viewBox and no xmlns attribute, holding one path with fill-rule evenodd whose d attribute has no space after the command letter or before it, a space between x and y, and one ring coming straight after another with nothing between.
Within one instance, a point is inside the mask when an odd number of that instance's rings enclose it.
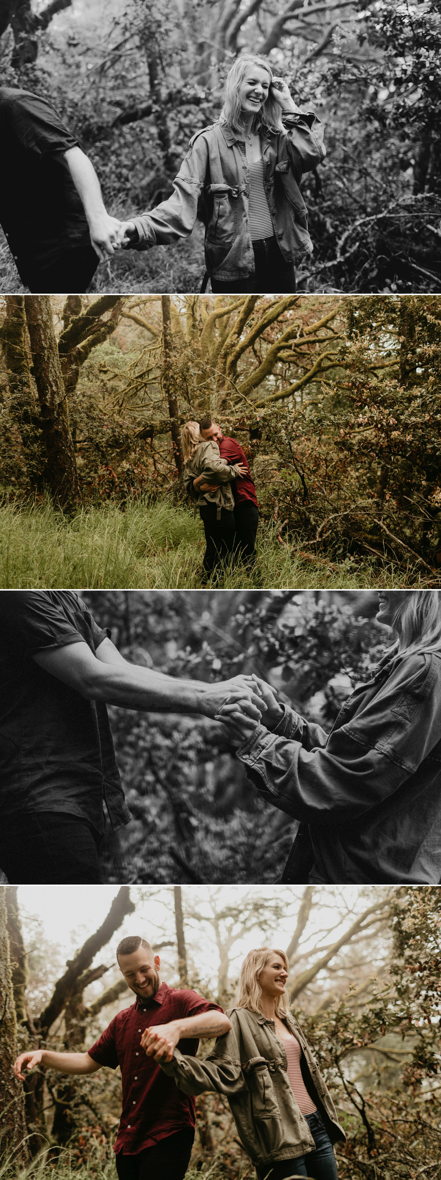
<instances>
[{"instance_id":1,"label":"tree trunk at far left edge of the bottom photo","mask_svg":"<svg viewBox=\"0 0 441 1180\"><path fill-rule=\"evenodd\" d=\"M6 892L8 889L7 885L0 885L0 1136L2 1148L6 1147L13 1152L15 1160L25 1165L29 1158L25 1096L22 1084L13 1071L18 1045L7 932Z\"/></svg>"}]
</instances>

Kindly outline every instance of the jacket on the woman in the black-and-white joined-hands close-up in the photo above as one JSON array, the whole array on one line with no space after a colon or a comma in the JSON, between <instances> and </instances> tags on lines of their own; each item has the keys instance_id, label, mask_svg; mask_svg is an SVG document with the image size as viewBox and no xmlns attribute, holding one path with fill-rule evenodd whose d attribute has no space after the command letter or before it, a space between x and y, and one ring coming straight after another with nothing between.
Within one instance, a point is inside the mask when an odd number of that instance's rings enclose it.
<instances>
[{"instance_id":1,"label":"jacket on the woman in the black-and-white joined-hands close-up","mask_svg":"<svg viewBox=\"0 0 441 1180\"><path fill-rule=\"evenodd\" d=\"M383 661L330 734L284 708L277 729L258 726L237 756L269 802L309 826L318 878L437 884L440 653Z\"/></svg>"}]
</instances>

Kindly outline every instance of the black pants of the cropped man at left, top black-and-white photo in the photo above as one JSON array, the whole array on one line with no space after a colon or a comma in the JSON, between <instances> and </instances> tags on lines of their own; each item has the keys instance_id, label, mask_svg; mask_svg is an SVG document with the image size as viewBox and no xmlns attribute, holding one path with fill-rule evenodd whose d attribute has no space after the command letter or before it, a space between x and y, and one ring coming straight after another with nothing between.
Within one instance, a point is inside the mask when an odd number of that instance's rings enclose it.
<instances>
[{"instance_id":1,"label":"black pants of the cropped man at left, top black-and-white photo","mask_svg":"<svg viewBox=\"0 0 441 1180\"><path fill-rule=\"evenodd\" d=\"M83 295L99 263L93 245L71 245L45 262L24 267L20 261L21 282L31 291L41 295Z\"/></svg>"}]
</instances>

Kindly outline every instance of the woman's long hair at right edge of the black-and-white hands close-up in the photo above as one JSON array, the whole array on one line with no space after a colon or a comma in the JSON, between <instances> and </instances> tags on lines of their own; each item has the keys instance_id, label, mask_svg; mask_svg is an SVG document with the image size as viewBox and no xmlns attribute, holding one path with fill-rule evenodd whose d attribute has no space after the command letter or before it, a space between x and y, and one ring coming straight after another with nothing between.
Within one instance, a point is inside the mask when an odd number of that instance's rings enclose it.
<instances>
[{"instance_id":1,"label":"woman's long hair at right edge of the black-and-white hands close-up","mask_svg":"<svg viewBox=\"0 0 441 1180\"><path fill-rule=\"evenodd\" d=\"M441 591L409 591L396 608L391 625L399 641L399 656L441 653Z\"/></svg>"}]
</instances>

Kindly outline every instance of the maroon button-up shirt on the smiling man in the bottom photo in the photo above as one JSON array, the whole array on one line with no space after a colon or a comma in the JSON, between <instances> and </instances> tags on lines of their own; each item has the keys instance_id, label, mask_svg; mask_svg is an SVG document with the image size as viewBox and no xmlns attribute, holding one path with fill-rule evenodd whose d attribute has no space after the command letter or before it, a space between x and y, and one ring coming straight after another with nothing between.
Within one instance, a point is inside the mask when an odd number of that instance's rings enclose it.
<instances>
[{"instance_id":1,"label":"maroon button-up shirt on the smiling man in the bottom photo","mask_svg":"<svg viewBox=\"0 0 441 1180\"><path fill-rule=\"evenodd\" d=\"M150 1025L209 1011L222 1012L223 1009L203 999L197 991L162 983L153 999L137 998L131 1008L118 1012L87 1050L100 1066L111 1069L119 1066L121 1070L123 1112L116 1152L137 1155L177 1130L195 1127L195 1099L178 1090L175 1079L166 1077L153 1057L146 1057L139 1042ZM198 1044L196 1040L179 1041L178 1049L196 1057Z\"/></svg>"}]
</instances>

